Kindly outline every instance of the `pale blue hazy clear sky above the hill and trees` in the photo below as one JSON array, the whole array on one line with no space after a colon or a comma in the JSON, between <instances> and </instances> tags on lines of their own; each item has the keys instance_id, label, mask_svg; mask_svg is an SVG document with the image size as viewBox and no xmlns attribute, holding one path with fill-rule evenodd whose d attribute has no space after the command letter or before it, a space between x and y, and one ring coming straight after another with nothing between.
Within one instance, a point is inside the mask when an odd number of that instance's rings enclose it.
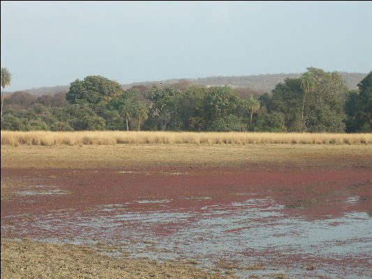
<instances>
[{"instance_id":1,"label":"pale blue hazy clear sky above the hill and trees","mask_svg":"<svg viewBox=\"0 0 372 279\"><path fill-rule=\"evenodd\" d=\"M372 1L1 1L6 91L372 70Z\"/></svg>"}]
</instances>

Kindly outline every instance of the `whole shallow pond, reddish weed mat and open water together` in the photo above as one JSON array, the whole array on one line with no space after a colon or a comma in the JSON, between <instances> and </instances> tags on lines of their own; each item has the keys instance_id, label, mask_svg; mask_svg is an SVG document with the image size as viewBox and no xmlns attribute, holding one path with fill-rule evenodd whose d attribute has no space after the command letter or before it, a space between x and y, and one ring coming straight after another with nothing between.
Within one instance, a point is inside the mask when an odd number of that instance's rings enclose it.
<instances>
[{"instance_id":1,"label":"whole shallow pond, reddish weed mat and open water together","mask_svg":"<svg viewBox=\"0 0 372 279\"><path fill-rule=\"evenodd\" d=\"M106 243L241 278L372 276L371 167L2 168L1 184L10 239Z\"/></svg>"}]
</instances>

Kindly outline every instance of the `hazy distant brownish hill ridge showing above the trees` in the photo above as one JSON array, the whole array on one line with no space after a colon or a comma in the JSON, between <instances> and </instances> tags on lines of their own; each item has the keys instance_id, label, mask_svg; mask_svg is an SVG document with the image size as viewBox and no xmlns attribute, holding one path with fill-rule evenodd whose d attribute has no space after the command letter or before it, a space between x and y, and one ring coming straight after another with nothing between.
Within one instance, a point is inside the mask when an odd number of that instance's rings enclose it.
<instances>
[{"instance_id":1,"label":"hazy distant brownish hill ridge showing above the trees","mask_svg":"<svg viewBox=\"0 0 372 279\"><path fill-rule=\"evenodd\" d=\"M366 73L345 73L338 72L346 82L349 89L357 89L357 84L366 77ZM225 85L228 84L234 89L248 88L253 89L260 93L269 92L276 84L284 81L285 78L299 77L302 73L290 73L290 74L274 74L274 75L244 75L239 77L200 77L197 79L186 79L193 84L204 85L204 86L215 86L215 85ZM152 84L174 84L179 80L184 79L170 79L170 80L158 80L153 82L134 82L131 84L121 84L123 89L130 89L132 86L151 86ZM47 94L55 94L60 92L67 92L68 85L66 86L50 86L50 87L40 87L36 89L22 90L31 93L35 96L43 96ZM5 92L5 94L10 94L13 92Z\"/></svg>"}]
</instances>

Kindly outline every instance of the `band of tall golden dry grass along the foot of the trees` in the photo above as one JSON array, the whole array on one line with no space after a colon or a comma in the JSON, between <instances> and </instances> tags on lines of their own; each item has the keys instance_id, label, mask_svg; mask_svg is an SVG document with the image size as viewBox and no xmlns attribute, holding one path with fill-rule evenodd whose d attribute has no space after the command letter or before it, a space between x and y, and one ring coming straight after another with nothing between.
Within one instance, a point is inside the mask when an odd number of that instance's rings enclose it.
<instances>
[{"instance_id":1,"label":"band of tall golden dry grass along the foot of the trees","mask_svg":"<svg viewBox=\"0 0 372 279\"><path fill-rule=\"evenodd\" d=\"M197 133L84 131L1 131L1 144L372 144L372 133Z\"/></svg>"}]
</instances>

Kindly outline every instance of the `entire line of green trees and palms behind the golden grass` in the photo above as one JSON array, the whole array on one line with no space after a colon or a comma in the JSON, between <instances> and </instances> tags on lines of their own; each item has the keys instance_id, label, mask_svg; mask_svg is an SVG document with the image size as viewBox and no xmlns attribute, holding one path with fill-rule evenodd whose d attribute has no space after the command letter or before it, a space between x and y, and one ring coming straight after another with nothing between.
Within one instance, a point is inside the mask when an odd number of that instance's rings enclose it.
<instances>
[{"instance_id":1,"label":"entire line of green trees and palms behind the golden grass","mask_svg":"<svg viewBox=\"0 0 372 279\"><path fill-rule=\"evenodd\" d=\"M3 86L2 73L3 68ZM349 90L339 73L307 68L270 93L243 99L227 85L184 80L123 90L113 80L91 75L71 82L58 98L34 97L25 101L31 107L9 104L1 130L372 133L372 72L357 86Z\"/></svg>"}]
</instances>

